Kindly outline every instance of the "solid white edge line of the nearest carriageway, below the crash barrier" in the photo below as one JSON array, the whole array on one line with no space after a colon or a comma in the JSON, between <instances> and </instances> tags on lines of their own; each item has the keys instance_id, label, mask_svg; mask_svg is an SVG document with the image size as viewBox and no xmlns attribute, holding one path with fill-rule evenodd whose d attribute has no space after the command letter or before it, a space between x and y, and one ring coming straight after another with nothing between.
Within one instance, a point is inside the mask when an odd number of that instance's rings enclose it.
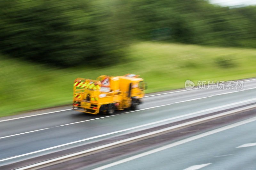
<instances>
[{"instance_id":1,"label":"solid white edge line of the nearest carriageway, below the crash barrier","mask_svg":"<svg viewBox=\"0 0 256 170\"><path fill-rule=\"evenodd\" d=\"M103 165L103 166L94 168L94 169L92 169L92 170L102 170L102 169L106 169L106 168L109 168L109 167L111 167L111 166L115 166L115 165L118 165L118 164L122 164L122 163L124 163L124 162L128 162L128 161L131 161L131 160L133 160L133 159L137 159L137 158L140 158L140 157L143 157L143 156L147 156L147 155L152 154L152 153L156 153L156 152L159 152L159 151L163 151L163 150L165 150L165 149L169 149L169 148L172 148L172 147L174 147L174 146L178 146L178 145L180 145L180 144L185 144L185 143L187 143L187 142L190 142L190 141L193 141L193 140L202 138L202 137L206 137L206 136L209 136L209 135L212 135L212 134L215 134L215 133L218 133L218 132L227 130L227 129L235 128L235 127L237 127L237 126L240 126L240 125L243 125L243 124L246 124L246 123L250 123L250 122L254 122L254 121L256 121L256 117L253 117L253 118L250 118L250 119L246 119L246 120L241 121L241 122L236 122L236 123L234 123L234 124L230 124L230 125L228 125L228 126L224 126L224 127L218 128L218 129L214 129L214 130L211 130L211 131L208 131L208 132L205 132L205 133L202 133L202 134L193 136L193 137L188 137L188 138L186 138L186 139L183 139L183 140L174 142L174 143L172 143L172 144L168 144L168 145L162 146L162 147L160 147L160 148L156 148L156 149L153 149L153 150L150 150L150 151L147 151L147 152L143 152L143 153L140 153L140 154L138 154L138 155L131 156L131 157L129 157L129 158L121 159L121 160L118 160L118 161L116 161L116 162L112 162L112 163L110 163L110 164L107 164L107 165Z\"/></svg>"}]
</instances>

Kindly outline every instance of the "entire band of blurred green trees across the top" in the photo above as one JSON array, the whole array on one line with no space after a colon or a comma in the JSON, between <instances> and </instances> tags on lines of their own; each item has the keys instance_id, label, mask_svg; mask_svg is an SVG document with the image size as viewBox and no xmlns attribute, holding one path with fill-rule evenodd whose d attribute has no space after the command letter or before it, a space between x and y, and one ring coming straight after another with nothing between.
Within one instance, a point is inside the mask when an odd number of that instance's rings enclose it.
<instances>
[{"instance_id":1,"label":"entire band of blurred green trees across the top","mask_svg":"<svg viewBox=\"0 0 256 170\"><path fill-rule=\"evenodd\" d=\"M256 6L230 9L205 0L0 2L1 52L40 63L117 63L133 39L256 48Z\"/></svg>"}]
</instances>

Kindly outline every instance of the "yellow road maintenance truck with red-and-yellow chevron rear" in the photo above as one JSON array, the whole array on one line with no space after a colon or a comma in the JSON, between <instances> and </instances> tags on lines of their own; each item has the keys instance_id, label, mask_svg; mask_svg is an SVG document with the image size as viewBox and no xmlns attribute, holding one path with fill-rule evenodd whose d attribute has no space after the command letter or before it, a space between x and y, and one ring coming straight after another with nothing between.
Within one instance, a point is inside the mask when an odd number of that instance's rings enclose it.
<instances>
[{"instance_id":1,"label":"yellow road maintenance truck with red-and-yellow chevron rear","mask_svg":"<svg viewBox=\"0 0 256 170\"><path fill-rule=\"evenodd\" d=\"M115 110L136 109L143 102L144 94L144 80L135 74L103 75L96 80L76 78L73 109L95 115L112 115Z\"/></svg>"}]
</instances>

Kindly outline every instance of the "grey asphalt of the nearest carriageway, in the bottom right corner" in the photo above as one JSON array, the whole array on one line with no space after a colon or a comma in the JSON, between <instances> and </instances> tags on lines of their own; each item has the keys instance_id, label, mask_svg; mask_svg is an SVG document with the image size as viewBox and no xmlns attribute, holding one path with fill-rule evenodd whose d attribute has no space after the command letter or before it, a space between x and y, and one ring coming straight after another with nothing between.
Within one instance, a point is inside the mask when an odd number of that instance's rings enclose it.
<instances>
[{"instance_id":1,"label":"grey asphalt of the nearest carriageway, in the bottom right corner","mask_svg":"<svg viewBox=\"0 0 256 170\"><path fill-rule=\"evenodd\" d=\"M255 170L256 145L237 148L243 144L256 142L256 134L252 132L252 129L256 129L255 121L111 166L106 170L185 170L186 168L193 170L191 166L203 164L210 165L202 167L200 170ZM131 156L134 155L124 158ZM122 159L108 161L89 169Z\"/></svg>"}]
</instances>

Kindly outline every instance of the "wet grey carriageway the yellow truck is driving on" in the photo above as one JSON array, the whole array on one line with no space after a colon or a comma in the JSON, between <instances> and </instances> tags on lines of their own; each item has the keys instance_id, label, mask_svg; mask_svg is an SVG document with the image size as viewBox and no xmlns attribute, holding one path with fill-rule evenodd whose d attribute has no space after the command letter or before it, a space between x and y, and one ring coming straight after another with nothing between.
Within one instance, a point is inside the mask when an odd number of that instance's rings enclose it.
<instances>
[{"instance_id":1,"label":"wet grey carriageway the yellow truck is driving on","mask_svg":"<svg viewBox=\"0 0 256 170\"><path fill-rule=\"evenodd\" d=\"M118 111L112 116L84 115L63 107L1 118L0 166L75 144L256 102L256 79L244 80L242 90L213 88L148 94L138 110Z\"/></svg>"}]
</instances>

